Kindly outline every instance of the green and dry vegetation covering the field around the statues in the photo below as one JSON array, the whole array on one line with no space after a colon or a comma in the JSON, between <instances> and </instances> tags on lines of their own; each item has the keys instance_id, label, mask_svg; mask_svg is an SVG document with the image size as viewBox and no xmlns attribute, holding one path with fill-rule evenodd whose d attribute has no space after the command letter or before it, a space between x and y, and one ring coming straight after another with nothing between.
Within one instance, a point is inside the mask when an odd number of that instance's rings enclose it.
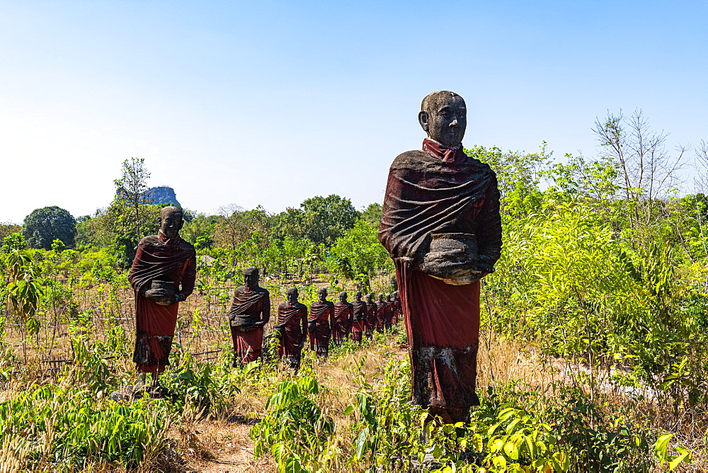
<instances>
[{"instance_id":1,"label":"green and dry vegetation covering the field around the statues","mask_svg":"<svg viewBox=\"0 0 708 473\"><path fill-rule=\"evenodd\" d=\"M290 285L304 303L322 286L394 289L379 204L185 210L200 263L162 377L174 395L132 402L110 398L135 384L125 268L159 206L119 179L74 244L31 248L1 226L0 464L194 470L252 442L241 463L258 472L702 471L708 198L675 190L687 149L668 152L641 113L609 114L595 133L595 159L556 162L545 144L466 150L498 174L504 246L482 285L481 405L465 425L411 404L401 326L333 347L326 365L306 350L298 375L275 359L268 327L263 360L232 367L227 312L246 266L261 268L273 307ZM148 175L132 160L122 179L131 170Z\"/></svg>"}]
</instances>

